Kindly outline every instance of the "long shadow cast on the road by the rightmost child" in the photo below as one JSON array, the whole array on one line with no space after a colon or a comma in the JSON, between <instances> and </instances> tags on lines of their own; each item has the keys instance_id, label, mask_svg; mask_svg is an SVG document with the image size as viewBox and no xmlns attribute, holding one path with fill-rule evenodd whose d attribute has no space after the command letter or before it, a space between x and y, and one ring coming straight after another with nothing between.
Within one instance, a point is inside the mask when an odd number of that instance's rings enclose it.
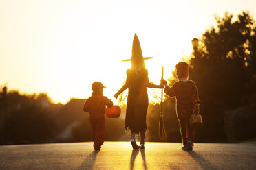
<instances>
[{"instance_id":1,"label":"long shadow cast on the road by the rightmost child","mask_svg":"<svg viewBox=\"0 0 256 170\"><path fill-rule=\"evenodd\" d=\"M217 170L217 168L212 165L208 160L206 160L203 156L196 153L195 151L187 151L189 155L200 165L202 169L212 169Z\"/></svg>"}]
</instances>

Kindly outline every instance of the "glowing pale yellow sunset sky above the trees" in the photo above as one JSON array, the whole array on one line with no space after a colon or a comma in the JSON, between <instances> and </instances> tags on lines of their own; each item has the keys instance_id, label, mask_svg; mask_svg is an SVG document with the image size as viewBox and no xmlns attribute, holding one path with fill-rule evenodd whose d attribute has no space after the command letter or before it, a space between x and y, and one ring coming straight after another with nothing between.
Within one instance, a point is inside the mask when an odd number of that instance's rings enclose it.
<instances>
[{"instance_id":1,"label":"glowing pale yellow sunset sky above the trees","mask_svg":"<svg viewBox=\"0 0 256 170\"><path fill-rule=\"evenodd\" d=\"M255 0L0 0L0 86L21 93L45 92L54 102L87 98L94 81L113 95L125 80L134 34L138 35L149 79L160 83L191 40L215 25L214 15L247 10Z\"/></svg>"}]
</instances>

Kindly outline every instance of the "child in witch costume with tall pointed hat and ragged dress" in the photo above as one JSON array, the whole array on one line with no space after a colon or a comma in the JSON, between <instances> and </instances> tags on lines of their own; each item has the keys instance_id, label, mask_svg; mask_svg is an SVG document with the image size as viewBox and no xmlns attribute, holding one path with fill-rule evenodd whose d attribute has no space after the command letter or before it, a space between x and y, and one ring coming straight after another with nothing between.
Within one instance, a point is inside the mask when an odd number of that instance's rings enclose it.
<instances>
[{"instance_id":1,"label":"child in witch costume with tall pointed hat and ragged dress","mask_svg":"<svg viewBox=\"0 0 256 170\"><path fill-rule=\"evenodd\" d=\"M114 95L115 98L128 88L127 110L125 117L125 130L131 130L131 145L134 149L144 149L145 132L147 130L146 115L149 99L147 95L147 87L163 88L163 85L155 85L149 82L148 71L145 69L140 41L137 35L134 35L131 59L123 61L131 61L131 69L127 69L127 78L125 84ZM140 133L140 147L136 144L135 134Z\"/></svg>"}]
</instances>

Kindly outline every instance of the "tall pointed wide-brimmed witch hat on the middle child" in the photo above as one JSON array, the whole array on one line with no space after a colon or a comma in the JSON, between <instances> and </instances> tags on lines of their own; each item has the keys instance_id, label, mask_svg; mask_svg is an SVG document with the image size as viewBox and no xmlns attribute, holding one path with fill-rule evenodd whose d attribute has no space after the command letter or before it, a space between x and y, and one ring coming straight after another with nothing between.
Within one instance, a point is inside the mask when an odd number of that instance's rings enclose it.
<instances>
[{"instance_id":1,"label":"tall pointed wide-brimmed witch hat on the middle child","mask_svg":"<svg viewBox=\"0 0 256 170\"><path fill-rule=\"evenodd\" d=\"M147 60L153 57L143 57L142 55L142 50L140 47L140 40L138 40L138 36L135 33L134 34L134 42L132 44L132 52L131 52L131 58L130 59L126 59L126 60L122 60L123 62L129 62L131 60Z\"/></svg>"}]
</instances>

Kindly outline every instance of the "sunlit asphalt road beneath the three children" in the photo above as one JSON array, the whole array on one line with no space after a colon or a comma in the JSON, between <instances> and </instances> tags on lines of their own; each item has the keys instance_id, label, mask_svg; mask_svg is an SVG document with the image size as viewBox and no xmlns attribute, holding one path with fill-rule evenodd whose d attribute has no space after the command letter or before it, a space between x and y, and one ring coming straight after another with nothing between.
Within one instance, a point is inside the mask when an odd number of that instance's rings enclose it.
<instances>
[{"instance_id":1,"label":"sunlit asphalt road beneath the three children","mask_svg":"<svg viewBox=\"0 0 256 170\"><path fill-rule=\"evenodd\" d=\"M145 143L133 150L128 142L0 146L0 169L256 169L256 143Z\"/></svg>"}]
</instances>

